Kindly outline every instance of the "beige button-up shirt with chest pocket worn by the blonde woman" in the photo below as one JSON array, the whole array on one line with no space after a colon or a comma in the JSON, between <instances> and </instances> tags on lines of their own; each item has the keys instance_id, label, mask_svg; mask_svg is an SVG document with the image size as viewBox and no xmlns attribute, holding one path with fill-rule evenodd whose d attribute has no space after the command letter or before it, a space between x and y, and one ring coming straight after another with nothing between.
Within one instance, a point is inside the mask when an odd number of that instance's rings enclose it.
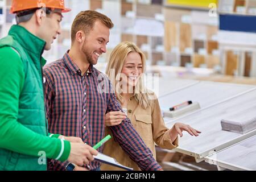
<instances>
[{"instance_id":1,"label":"beige button-up shirt with chest pocket worn by the blonde woman","mask_svg":"<svg viewBox=\"0 0 256 182\"><path fill-rule=\"evenodd\" d=\"M156 159L155 143L161 148L173 149L178 146L178 137L171 141L169 129L164 125L162 114L158 100L154 100L154 104L147 109L142 109L134 97L131 97L127 104L127 117L131 120L135 130L144 140L145 144L152 151ZM134 170L141 170L138 165L129 158L129 156L122 150L117 142L115 142L113 135L106 127L105 135L110 134L112 138L104 144L103 153L112 156L118 163L134 168ZM107 164L101 164L101 170L122 170Z\"/></svg>"}]
</instances>

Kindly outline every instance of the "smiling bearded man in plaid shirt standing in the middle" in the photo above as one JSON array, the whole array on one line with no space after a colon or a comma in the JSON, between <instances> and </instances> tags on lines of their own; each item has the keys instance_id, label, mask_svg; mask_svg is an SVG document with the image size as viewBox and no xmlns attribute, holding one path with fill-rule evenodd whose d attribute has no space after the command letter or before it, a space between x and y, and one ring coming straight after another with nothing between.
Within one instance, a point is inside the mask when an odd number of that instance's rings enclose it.
<instances>
[{"instance_id":1,"label":"smiling bearded man in plaid shirt standing in the middle","mask_svg":"<svg viewBox=\"0 0 256 182\"><path fill-rule=\"evenodd\" d=\"M109 31L114 25L96 11L81 11L71 28L71 49L44 67L45 101L49 131L65 136L80 137L94 146L105 135L105 114L122 110L108 78L93 67L106 52ZM104 88L107 92L102 92ZM109 90L109 92L108 92ZM119 113L119 112L118 112ZM143 170L160 170L150 149L125 116L120 125L110 127L114 139ZM98 151L102 152L103 146ZM114 152L114 148L113 148ZM52 169L65 170L68 163L51 160ZM77 169L100 170L100 163L76 166Z\"/></svg>"}]
</instances>

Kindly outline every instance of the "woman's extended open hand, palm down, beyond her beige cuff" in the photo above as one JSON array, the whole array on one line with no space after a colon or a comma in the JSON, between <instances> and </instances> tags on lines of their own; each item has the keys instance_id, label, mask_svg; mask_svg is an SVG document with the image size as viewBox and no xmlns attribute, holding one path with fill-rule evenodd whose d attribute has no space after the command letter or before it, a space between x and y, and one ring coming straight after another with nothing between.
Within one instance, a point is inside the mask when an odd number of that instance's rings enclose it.
<instances>
[{"instance_id":1,"label":"woman's extended open hand, palm down, beyond her beige cuff","mask_svg":"<svg viewBox=\"0 0 256 182\"><path fill-rule=\"evenodd\" d=\"M174 141L177 135L183 136L183 131L187 131L191 136L198 136L201 131L194 129L193 127L184 123L175 123L172 129L170 129L171 140Z\"/></svg>"}]
</instances>

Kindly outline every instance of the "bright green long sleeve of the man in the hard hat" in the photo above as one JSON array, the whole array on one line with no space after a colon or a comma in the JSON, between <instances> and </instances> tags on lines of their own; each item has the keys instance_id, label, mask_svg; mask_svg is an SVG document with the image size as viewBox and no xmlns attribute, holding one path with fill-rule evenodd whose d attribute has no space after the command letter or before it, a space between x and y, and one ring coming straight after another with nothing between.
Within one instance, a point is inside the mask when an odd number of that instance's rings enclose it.
<instances>
[{"instance_id":1,"label":"bright green long sleeve of the man in the hard hat","mask_svg":"<svg viewBox=\"0 0 256 182\"><path fill-rule=\"evenodd\" d=\"M70 142L40 135L17 121L24 77L18 53L11 47L0 48L0 148L32 156L44 151L50 159L62 154L59 160L67 160Z\"/></svg>"}]
</instances>

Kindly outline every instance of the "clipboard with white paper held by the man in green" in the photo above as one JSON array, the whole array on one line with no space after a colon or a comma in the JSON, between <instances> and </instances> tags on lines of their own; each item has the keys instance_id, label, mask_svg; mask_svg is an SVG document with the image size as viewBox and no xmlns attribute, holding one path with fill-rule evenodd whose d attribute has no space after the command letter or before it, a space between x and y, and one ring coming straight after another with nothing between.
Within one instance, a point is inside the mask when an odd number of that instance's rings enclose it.
<instances>
[{"instance_id":1,"label":"clipboard with white paper held by the man in green","mask_svg":"<svg viewBox=\"0 0 256 182\"><path fill-rule=\"evenodd\" d=\"M93 157L94 157L94 160L96 160L98 162L109 164L109 165L119 167L122 169L126 169L127 171L133 171L133 168L123 166L122 164L119 164L117 162L117 160L115 160L114 158L112 158L108 155L102 154L101 152L98 152L98 155L94 155Z\"/></svg>"}]
</instances>

